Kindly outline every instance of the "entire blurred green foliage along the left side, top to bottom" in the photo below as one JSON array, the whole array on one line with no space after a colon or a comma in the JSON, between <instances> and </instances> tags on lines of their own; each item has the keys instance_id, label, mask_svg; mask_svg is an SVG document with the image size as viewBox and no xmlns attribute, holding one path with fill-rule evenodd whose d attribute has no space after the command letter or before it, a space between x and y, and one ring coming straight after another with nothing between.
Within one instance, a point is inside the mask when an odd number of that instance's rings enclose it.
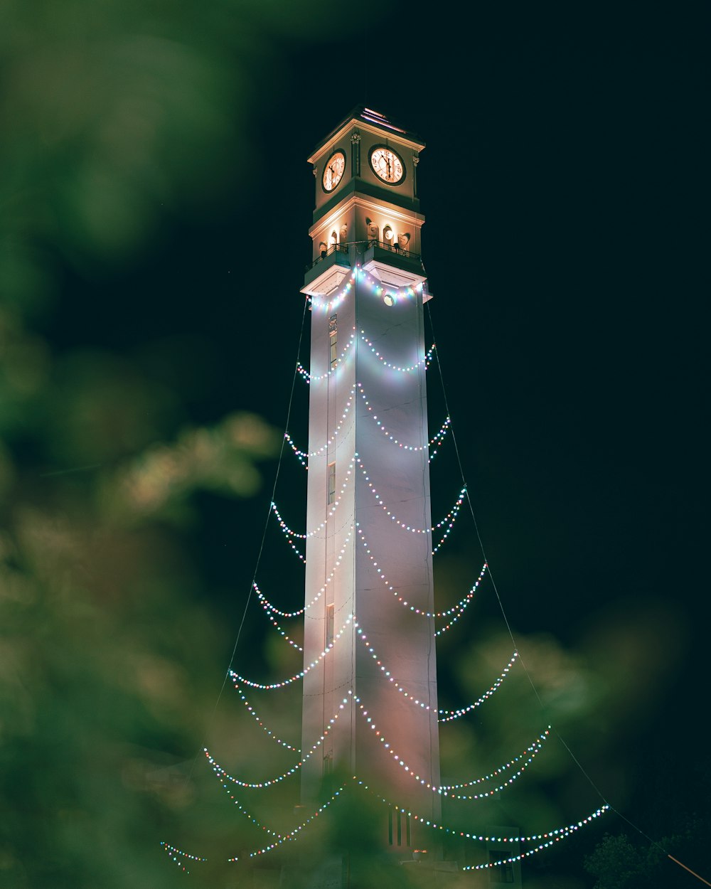
<instances>
[{"instance_id":1,"label":"entire blurred green foliage along the left side, top to bottom","mask_svg":"<svg viewBox=\"0 0 711 889\"><path fill-rule=\"evenodd\" d=\"M121 311L104 299L111 276L181 220L199 228L239 202L260 163L252 116L285 76L280 44L329 27L305 0L0 4L8 889L173 885L160 838L239 845L235 811L215 821L191 777L208 721L232 739L239 723L212 714L232 629L186 529L197 493L257 492L279 436L244 412L191 421L209 374L190 356L210 348L193 331L152 344L137 317L135 340L108 351L92 324ZM53 336L75 280L93 290L84 348Z\"/></svg>"}]
</instances>

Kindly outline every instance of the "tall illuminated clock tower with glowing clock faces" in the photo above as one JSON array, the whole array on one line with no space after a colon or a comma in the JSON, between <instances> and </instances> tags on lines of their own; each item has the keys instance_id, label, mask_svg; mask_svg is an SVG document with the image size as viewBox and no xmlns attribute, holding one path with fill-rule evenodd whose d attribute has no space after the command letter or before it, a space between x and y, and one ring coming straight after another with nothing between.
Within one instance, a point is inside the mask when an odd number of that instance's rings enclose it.
<instances>
[{"instance_id":1,"label":"tall illuminated clock tower with glowing clock faces","mask_svg":"<svg viewBox=\"0 0 711 889\"><path fill-rule=\"evenodd\" d=\"M440 776L423 148L363 107L316 147L302 288L311 364L301 749L314 751L302 803L355 777L391 804L384 842L410 857L427 840L407 813L441 814L431 789Z\"/></svg>"}]
</instances>

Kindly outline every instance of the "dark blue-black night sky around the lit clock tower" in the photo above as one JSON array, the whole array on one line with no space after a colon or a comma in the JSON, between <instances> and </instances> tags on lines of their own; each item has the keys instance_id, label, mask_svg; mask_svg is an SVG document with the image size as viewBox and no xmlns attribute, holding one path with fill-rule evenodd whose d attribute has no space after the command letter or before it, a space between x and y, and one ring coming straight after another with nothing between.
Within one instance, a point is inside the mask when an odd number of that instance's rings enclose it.
<instances>
[{"instance_id":1,"label":"dark blue-black night sky around the lit clock tower","mask_svg":"<svg viewBox=\"0 0 711 889\"><path fill-rule=\"evenodd\" d=\"M310 260L306 158L359 103L417 132L429 331L493 577L524 658L555 640L603 677L581 714L581 736L604 726L584 765L646 830L647 770L673 766L675 805L698 805L684 773L707 757L707 59L692 5L571 8L475 5L466 23L453 6L363 7L355 22L324 9L331 37L275 37L236 121L246 174L172 218L130 267L68 271L52 336L133 354L181 342L185 420L247 410L283 430ZM437 428L434 365L428 385ZM297 380L303 445L307 408ZM438 460L435 518L460 486L451 441ZM235 631L275 471L251 500L205 495L186 541ZM284 452L276 501L297 527L304 493ZM267 546L265 571L298 587L283 541ZM471 517L443 559L457 578L478 569ZM487 614L500 622L495 604ZM463 624L466 645L476 621Z\"/></svg>"}]
</instances>

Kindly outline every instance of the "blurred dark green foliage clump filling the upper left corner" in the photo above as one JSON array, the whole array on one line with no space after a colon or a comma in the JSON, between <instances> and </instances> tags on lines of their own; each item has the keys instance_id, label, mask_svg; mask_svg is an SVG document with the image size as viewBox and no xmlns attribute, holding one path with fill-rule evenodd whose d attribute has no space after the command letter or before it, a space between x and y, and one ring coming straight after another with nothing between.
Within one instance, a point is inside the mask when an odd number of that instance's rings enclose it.
<instances>
[{"instance_id":1,"label":"blurred dark green foliage clump filling the upper left corner","mask_svg":"<svg viewBox=\"0 0 711 889\"><path fill-rule=\"evenodd\" d=\"M328 28L305 0L6 0L0 292L37 308L58 260L103 273L172 213L213 212L259 163L249 116L284 77L276 40Z\"/></svg>"}]
</instances>

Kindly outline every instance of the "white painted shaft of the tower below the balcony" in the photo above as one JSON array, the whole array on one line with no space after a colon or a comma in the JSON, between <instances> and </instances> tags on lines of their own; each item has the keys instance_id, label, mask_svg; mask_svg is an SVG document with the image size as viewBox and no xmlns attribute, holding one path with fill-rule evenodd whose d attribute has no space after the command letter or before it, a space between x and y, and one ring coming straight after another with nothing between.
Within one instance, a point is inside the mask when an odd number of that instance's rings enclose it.
<instances>
[{"instance_id":1,"label":"white painted shaft of the tower below the balcony","mask_svg":"<svg viewBox=\"0 0 711 889\"><path fill-rule=\"evenodd\" d=\"M362 255L360 260L362 261ZM335 294L334 294L335 295ZM327 521L323 530L306 543L306 594L311 603L332 574L340 550L350 540L340 566L333 573L325 595L308 607L305 615L304 663L309 665L325 645L326 605L335 610L336 633L349 614L360 628L379 661L395 681L390 681L366 650L353 623L346 626L332 653L319 661L304 679L302 755L318 741L338 712L338 721L323 747L309 757L302 773L302 801L319 796L324 754L346 773L368 781L397 805L420 815L439 819L440 797L395 762L376 732L361 716L348 693L354 693L368 710L372 723L402 757L411 772L427 783L439 784L435 626L433 619L411 613L400 605L373 566L356 532L358 523L371 555L398 595L422 611L434 611L431 533L412 533L395 524L376 501L354 462L357 453L368 471L381 501L398 521L415 528L431 525L427 448L405 451L394 445L372 419L376 414L400 441L427 445L427 388L424 364L411 372L388 368L361 339L361 331L375 344L387 362L399 366L417 364L425 354L421 296L398 297L387 306L368 281L356 283L338 308L316 297L312 310L312 382L309 404L309 452L333 444L310 458L308 468L307 529ZM337 370L328 370L329 318L338 315L339 354L351 334L356 339L340 358ZM368 412L354 386L363 386L373 408ZM353 394L347 419L340 423ZM326 504L327 466L336 461L336 493L345 490L335 510ZM350 470L350 475L348 475ZM403 687L408 697L396 689ZM423 709L410 701L427 702ZM345 709L340 702L348 699ZM371 723L371 724L372 724Z\"/></svg>"}]
</instances>

